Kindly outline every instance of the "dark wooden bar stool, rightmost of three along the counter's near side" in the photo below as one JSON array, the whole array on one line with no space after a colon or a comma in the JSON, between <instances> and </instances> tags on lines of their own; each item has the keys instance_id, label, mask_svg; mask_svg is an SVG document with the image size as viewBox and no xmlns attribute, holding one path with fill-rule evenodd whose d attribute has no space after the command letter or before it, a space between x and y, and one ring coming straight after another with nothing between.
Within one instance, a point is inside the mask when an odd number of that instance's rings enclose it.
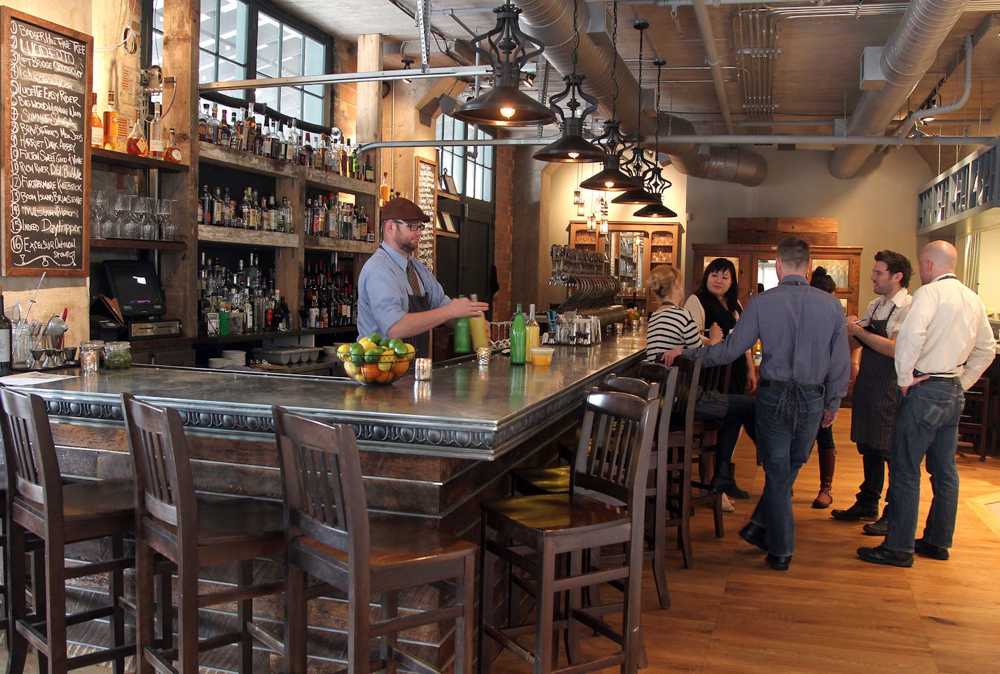
<instances>
[{"instance_id":1,"label":"dark wooden bar stool, rightmost of three along the counter's near side","mask_svg":"<svg viewBox=\"0 0 1000 674\"><path fill-rule=\"evenodd\" d=\"M288 575L285 671L305 674L306 602L336 588L347 594L347 671L371 671L370 640L381 639L389 674L397 664L417 672L439 670L399 648L397 633L455 621L456 674L469 674L475 643L476 546L443 531L391 518L369 522L361 459L349 426L327 425L274 408L285 484ZM310 579L320 581L307 587ZM399 611L401 590L444 586L449 605ZM378 594L381 617L372 618Z\"/></svg>"}]
</instances>

